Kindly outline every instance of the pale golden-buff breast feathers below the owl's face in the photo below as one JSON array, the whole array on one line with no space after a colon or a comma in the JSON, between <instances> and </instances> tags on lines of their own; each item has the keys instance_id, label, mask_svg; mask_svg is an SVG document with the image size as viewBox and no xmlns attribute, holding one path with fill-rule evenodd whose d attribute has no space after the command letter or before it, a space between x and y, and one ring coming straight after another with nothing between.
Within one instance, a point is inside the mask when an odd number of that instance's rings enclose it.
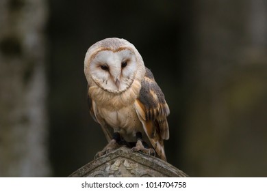
<instances>
[{"instance_id":1,"label":"pale golden-buff breast feathers below the owl's face","mask_svg":"<svg viewBox=\"0 0 267 191\"><path fill-rule=\"evenodd\" d=\"M119 94L105 91L97 85L88 87L90 113L101 124L105 135L107 127L110 127L114 132L120 132L125 140L132 141L134 132L142 130L142 123L134 108L140 89L140 80L133 80L131 87ZM108 133L109 136L106 135L107 141L111 140L112 132Z\"/></svg>"}]
</instances>

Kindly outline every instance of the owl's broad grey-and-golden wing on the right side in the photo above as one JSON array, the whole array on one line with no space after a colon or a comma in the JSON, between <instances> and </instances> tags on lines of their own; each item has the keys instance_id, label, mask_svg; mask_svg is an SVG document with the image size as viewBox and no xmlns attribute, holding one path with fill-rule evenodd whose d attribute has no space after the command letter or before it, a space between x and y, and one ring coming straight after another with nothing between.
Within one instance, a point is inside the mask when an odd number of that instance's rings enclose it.
<instances>
[{"instance_id":1,"label":"owl's broad grey-and-golden wing on the right side","mask_svg":"<svg viewBox=\"0 0 267 191\"><path fill-rule=\"evenodd\" d=\"M148 68L141 85L139 97L134 103L136 113L155 151L160 158L166 160L163 141L169 138L166 117L170 110L162 90Z\"/></svg>"}]
</instances>

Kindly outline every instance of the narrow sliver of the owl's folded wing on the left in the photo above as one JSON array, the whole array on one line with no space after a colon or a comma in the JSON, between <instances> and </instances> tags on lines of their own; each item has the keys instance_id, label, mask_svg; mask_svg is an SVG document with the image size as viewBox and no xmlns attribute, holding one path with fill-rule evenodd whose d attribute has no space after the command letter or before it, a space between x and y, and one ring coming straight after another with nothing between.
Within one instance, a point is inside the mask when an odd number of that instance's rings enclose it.
<instances>
[{"instance_id":1,"label":"narrow sliver of the owl's folded wing on the left","mask_svg":"<svg viewBox=\"0 0 267 191\"><path fill-rule=\"evenodd\" d=\"M88 91L89 92L89 85L88 85ZM87 93L88 95L88 106L90 108L90 114L92 116L92 118L94 119L94 121L96 121L97 123L99 123L101 125L101 128L105 134L105 138L107 138L107 142L110 142L112 140L112 128L110 126L107 125L107 123L105 122L105 119L103 119L102 117L99 117L98 115L98 111L97 111L97 105L95 104L94 100L92 100L89 96L89 93Z\"/></svg>"}]
</instances>

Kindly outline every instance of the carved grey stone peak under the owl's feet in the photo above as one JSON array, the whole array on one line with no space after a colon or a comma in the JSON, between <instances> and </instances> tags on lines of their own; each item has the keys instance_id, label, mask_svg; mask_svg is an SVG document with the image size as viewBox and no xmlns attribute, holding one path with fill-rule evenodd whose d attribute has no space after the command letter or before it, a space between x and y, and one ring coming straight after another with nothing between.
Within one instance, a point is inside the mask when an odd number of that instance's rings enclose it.
<instances>
[{"instance_id":1,"label":"carved grey stone peak under the owl's feet","mask_svg":"<svg viewBox=\"0 0 267 191\"><path fill-rule=\"evenodd\" d=\"M82 166L69 177L188 177L175 166L120 147Z\"/></svg>"}]
</instances>

